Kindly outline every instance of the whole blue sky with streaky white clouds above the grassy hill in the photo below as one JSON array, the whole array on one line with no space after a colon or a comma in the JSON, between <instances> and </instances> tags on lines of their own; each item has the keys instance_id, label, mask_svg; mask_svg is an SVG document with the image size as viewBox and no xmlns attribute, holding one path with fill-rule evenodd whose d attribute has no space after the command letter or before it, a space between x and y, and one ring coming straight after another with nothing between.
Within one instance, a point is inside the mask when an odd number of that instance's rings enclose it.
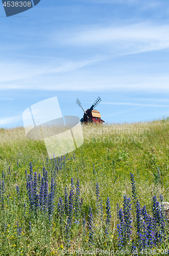
<instances>
[{"instance_id":1,"label":"whole blue sky with streaky white clouds above the grassy hill","mask_svg":"<svg viewBox=\"0 0 169 256\"><path fill-rule=\"evenodd\" d=\"M79 98L106 122L169 116L169 3L50 0L6 17L0 3L1 127L57 96L63 115Z\"/></svg>"}]
</instances>

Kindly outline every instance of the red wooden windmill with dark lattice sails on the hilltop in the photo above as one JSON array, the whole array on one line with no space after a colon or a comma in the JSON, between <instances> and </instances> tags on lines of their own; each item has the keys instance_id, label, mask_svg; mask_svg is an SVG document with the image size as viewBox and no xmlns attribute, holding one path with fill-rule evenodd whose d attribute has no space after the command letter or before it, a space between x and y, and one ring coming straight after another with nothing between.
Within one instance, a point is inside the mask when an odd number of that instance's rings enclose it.
<instances>
[{"instance_id":1,"label":"red wooden windmill with dark lattice sails on the hilltop","mask_svg":"<svg viewBox=\"0 0 169 256\"><path fill-rule=\"evenodd\" d=\"M83 122L94 122L94 123L103 123L104 121L101 119L101 114L99 111L94 110L95 106L98 105L101 102L101 98L98 97L94 103L91 105L90 109L87 109L86 111L82 108L81 102L79 99L77 99L76 103L78 106L81 106L84 116L80 119L80 121Z\"/></svg>"}]
</instances>

